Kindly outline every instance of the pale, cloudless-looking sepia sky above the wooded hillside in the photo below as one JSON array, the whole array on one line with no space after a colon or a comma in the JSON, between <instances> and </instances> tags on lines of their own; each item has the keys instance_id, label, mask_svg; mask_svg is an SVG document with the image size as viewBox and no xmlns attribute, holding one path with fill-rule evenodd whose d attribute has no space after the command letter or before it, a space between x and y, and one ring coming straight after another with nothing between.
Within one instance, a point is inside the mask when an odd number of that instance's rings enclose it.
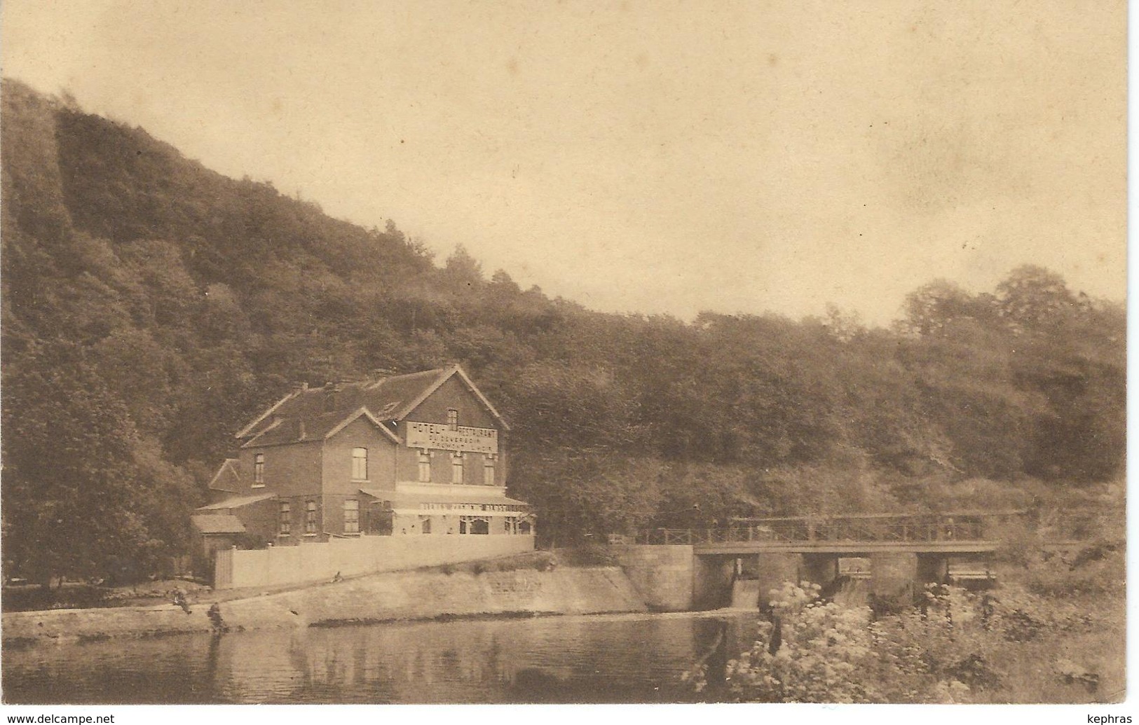
<instances>
[{"instance_id":1,"label":"pale, cloudless-looking sepia sky above the wooded hillside","mask_svg":"<svg viewBox=\"0 0 1139 725\"><path fill-rule=\"evenodd\" d=\"M1123 1L6 0L3 74L604 311L1125 289Z\"/></svg>"}]
</instances>

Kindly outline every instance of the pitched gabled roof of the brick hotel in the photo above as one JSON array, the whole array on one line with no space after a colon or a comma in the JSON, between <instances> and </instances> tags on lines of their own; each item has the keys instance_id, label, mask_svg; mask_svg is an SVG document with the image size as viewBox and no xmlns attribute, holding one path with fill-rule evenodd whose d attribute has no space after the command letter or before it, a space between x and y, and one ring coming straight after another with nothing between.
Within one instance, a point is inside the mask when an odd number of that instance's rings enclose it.
<instances>
[{"instance_id":1,"label":"pitched gabled roof of the brick hotel","mask_svg":"<svg viewBox=\"0 0 1139 725\"><path fill-rule=\"evenodd\" d=\"M322 440L358 418L367 418L394 443L401 443L384 421L403 420L452 377L478 399L503 429L509 429L490 401L458 365L322 388L294 390L237 434L241 447Z\"/></svg>"}]
</instances>

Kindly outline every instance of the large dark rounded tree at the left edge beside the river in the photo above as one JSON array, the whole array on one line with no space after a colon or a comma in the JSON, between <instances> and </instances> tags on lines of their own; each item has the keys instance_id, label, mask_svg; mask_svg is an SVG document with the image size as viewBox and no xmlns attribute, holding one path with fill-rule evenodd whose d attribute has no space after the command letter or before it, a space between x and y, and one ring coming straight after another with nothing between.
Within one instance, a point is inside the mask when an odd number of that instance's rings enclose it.
<instances>
[{"instance_id":1,"label":"large dark rounded tree at the left edge beside the river","mask_svg":"<svg viewBox=\"0 0 1139 725\"><path fill-rule=\"evenodd\" d=\"M179 536L151 525L156 505L178 512L188 481L174 476L169 500L151 495L138 432L82 352L44 345L5 388L6 561L41 584L106 576L113 559L161 567Z\"/></svg>"}]
</instances>

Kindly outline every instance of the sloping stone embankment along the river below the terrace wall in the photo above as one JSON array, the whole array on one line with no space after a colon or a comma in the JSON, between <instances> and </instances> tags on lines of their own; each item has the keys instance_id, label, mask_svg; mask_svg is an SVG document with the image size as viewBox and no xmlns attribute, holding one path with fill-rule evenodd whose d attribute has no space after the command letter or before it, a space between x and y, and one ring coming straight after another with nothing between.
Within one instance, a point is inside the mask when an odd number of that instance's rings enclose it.
<instances>
[{"instance_id":1,"label":"sloping stone embankment along the river below the terrace wall","mask_svg":"<svg viewBox=\"0 0 1139 725\"><path fill-rule=\"evenodd\" d=\"M211 603L8 612L6 644L213 632ZM618 567L403 571L219 602L228 631L458 617L647 611Z\"/></svg>"}]
</instances>

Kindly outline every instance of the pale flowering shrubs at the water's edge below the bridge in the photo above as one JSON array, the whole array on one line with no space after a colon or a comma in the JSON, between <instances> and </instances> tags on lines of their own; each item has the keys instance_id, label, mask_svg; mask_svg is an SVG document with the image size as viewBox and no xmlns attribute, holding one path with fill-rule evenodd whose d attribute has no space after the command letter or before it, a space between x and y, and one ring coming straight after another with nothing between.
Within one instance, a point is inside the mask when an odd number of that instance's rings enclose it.
<instances>
[{"instance_id":1,"label":"pale flowering shrubs at the water's edge below the bridge","mask_svg":"<svg viewBox=\"0 0 1139 725\"><path fill-rule=\"evenodd\" d=\"M991 602L931 585L920 608L874 619L869 607L818 600L817 585L771 592L772 616L751 650L730 660L737 700L760 702L960 702L994 687ZM984 605L982 605L984 604ZM702 668L688 673L705 686Z\"/></svg>"}]
</instances>

